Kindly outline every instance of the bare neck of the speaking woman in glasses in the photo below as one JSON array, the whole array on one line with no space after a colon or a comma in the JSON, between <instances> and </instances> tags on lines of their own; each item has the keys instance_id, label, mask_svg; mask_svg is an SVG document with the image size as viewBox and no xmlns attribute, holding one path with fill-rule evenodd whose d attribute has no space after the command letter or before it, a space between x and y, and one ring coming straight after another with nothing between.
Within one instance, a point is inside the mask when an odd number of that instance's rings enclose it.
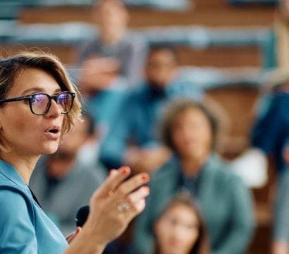
<instances>
[{"instance_id":1,"label":"bare neck of the speaking woman in glasses","mask_svg":"<svg viewBox=\"0 0 289 254\"><path fill-rule=\"evenodd\" d=\"M39 159L40 155L34 156L20 156L15 152L1 153L0 158L5 162L11 164L18 174L22 177L23 181L28 185L30 181L31 174L35 168L35 164Z\"/></svg>"}]
</instances>

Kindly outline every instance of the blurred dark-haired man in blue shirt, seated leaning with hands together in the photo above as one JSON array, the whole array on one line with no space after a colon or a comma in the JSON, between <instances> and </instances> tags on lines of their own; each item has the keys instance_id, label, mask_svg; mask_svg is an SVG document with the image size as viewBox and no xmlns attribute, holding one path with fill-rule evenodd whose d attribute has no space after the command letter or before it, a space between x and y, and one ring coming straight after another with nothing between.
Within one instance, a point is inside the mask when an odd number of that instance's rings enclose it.
<instances>
[{"instance_id":1,"label":"blurred dark-haired man in blue shirt, seated leaning with hands together","mask_svg":"<svg viewBox=\"0 0 289 254\"><path fill-rule=\"evenodd\" d=\"M204 99L204 91L190 82L180 83L180 75L173 48L166 45L151 48L145 68L146 82L130 92L101 145L100 159L107 168L128 164L135 171L149 172L159 169L171 156L157 142L165 105L178 97Z\"/></svg>"}]
</instances>

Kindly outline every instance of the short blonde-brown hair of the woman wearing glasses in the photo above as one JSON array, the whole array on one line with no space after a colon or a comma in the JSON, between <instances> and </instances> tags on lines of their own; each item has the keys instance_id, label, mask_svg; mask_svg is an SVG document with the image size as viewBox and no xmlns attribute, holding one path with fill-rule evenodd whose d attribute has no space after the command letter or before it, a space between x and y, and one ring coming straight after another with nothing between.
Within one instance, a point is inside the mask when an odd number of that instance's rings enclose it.
<instances>
[{"instance_id":1,"label":"short blonde-brown hair of the woman wearing glasses","mask_svg":"<svg viewBox=\"0 0 289 254\"><path fill-rule=\"evenodd\" d=\"M62 91L75 92L76 97L73 107L68 114L65 114L63 119L63 133L67 133L75 123L75 120L80 119L80 93L68 78L66 69L56 56L45 54L44 52L24 52L6 59L0 59L0 99L6 99L8 92L15 85L18 75L27 68L45 71L54 77ZM0 105L0 107L3 106ZM0 136L0 150L6 150L7 148Z\"/></svg>"}]
</instances>

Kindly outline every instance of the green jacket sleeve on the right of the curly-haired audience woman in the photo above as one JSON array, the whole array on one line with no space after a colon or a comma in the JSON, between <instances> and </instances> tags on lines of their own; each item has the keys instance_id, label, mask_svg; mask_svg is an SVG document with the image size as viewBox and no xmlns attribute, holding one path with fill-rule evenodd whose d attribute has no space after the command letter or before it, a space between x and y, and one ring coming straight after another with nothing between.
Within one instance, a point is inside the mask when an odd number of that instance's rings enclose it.
<instances>
[{"instance_id":1,"label":"green jacket sleeve on the right of the curly-haired audience woman","mask_svg":"<svg viewBox=\"0 0 289 254\"><path fill-rule=\"evenodd\" d=\"M245 253L254 231L254 216L250 191L238 176L233 176L228 183L231 204L230 230L219 244L214 254Z\"/></svg>"}]
</instances>

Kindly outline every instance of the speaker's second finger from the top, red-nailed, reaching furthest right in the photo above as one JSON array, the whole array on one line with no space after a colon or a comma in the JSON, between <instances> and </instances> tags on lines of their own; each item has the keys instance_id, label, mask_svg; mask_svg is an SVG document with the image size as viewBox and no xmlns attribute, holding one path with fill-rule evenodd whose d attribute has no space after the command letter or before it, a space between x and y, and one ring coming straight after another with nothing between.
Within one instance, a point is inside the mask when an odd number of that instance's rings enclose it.
<instances>
[{"instance_id":1,"label":"speaker's second finger from the top, red-nailed, reaching furthest right","mask_svg":"<svg viewBox=\"0 0 289 254\"><path fill-rule=\"evenodd\" d=\"M149 175L146 173L137 174L136 176L133 176L131 179L128 179L127 181L121 183L121 186L118 187L118 189L115 191L115 198L121 199L125 197L125 195L128 195L132 191L135 191L135 189L139 188L140 186L143 186L149 181Z\"/></svg>"}]
</instances>

